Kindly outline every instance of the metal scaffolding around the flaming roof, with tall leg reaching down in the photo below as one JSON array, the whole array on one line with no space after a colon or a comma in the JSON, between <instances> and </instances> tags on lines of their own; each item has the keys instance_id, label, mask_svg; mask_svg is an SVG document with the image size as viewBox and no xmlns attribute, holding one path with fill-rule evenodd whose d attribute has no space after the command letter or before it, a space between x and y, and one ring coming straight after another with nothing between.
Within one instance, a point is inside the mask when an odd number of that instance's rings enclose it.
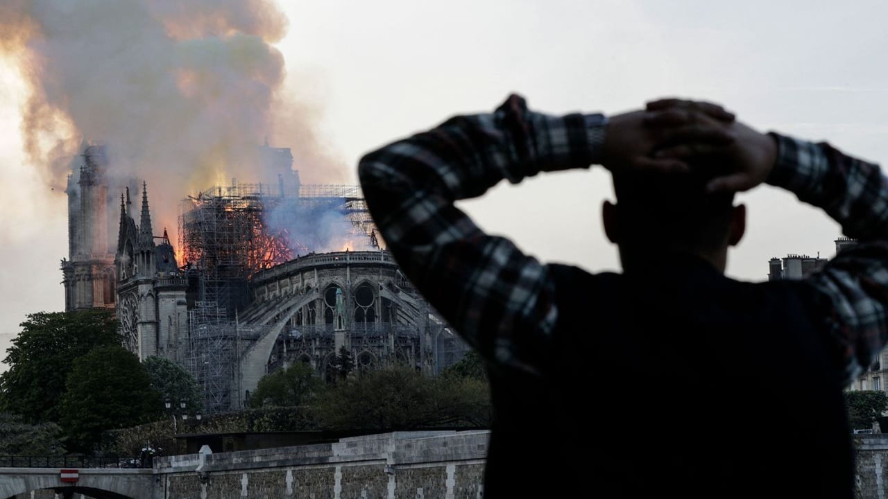
<instances>
[{"instance_id":1,"label":"metal scaffolding around the flaming roof, with tall leg reaching down","mask_svg":"<svg viewBox=\"0 0 888 499\"><path fill-rule=\"evenodd\" d=\"M250 303L250 277L261 270L316 250L286 223L302 228L329 222L333 214L350 226L349 239L377 247L376 226L358 186L215 186L189 196L179 210L182 262L196 270L196 306L189 311L187 365L202 384L208 413L231 407L233 369L239 366L240 339L234 321ZM298 226L298 225L297 225ZM323 250L323 249L317 249ZM239 393L239 392L238 392Z\"/></svg>"}]
</instances>

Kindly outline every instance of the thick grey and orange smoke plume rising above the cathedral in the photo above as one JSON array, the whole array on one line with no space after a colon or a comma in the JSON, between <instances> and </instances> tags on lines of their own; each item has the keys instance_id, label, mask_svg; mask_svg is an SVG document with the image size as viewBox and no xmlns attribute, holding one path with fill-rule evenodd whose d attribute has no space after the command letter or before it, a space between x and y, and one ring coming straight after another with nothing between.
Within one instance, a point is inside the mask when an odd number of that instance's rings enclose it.
<instances>
[{"instance_id":1,"label":"thick grey and orange smoke plume rising above the cathedral","mask_svg":"<svg viewBox=\"0 0 888 499\"><path fill-rule=\"evenodd\" d=\"M4 0L0 56L29 84L30 162L61 192L83 139L103 144L111 175L147 180L155 232L173 232L186 194L265 180L256 148L274 107L298 107L279 95L286 29L268 0ZM310 148L312 126L289 120Z\"/></svg>"}]
</instances>

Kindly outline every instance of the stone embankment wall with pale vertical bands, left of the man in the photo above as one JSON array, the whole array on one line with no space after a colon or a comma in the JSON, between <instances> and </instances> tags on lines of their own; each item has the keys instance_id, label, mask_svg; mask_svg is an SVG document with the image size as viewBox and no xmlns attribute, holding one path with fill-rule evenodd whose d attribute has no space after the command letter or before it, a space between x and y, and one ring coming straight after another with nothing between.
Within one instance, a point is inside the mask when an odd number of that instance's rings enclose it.
<instances>
[{"instance_id":1,"label":"stone embankment wall with pale vertical bands, left of the man","mask_svg":"<svg viewBox=\"0 0 888 499\"><path fill-rule=\"evenodd\" d=\"M488 432L393 432L155 460L158 499L476 499Z\"/></svg>"}]
</instances>

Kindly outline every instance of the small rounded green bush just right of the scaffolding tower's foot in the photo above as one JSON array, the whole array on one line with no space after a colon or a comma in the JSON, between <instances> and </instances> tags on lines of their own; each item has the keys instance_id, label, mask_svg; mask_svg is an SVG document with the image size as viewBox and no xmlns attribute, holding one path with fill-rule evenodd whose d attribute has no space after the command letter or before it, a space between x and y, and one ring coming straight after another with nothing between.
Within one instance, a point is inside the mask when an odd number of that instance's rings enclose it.
<instances>
[{"instance_id":1,"label":"small rounded green bush just right of the scaffolding tower's foot","mask_svg":"<svg viewBox=\"0 0 888 499\"><path fill-rule=\"evenodd\" d=\"M278 369L259 380L250 396L250 407L301 406L323 390L321 378L305 362L296 362L286 369Z\"/></svg>"}]
</instances>

